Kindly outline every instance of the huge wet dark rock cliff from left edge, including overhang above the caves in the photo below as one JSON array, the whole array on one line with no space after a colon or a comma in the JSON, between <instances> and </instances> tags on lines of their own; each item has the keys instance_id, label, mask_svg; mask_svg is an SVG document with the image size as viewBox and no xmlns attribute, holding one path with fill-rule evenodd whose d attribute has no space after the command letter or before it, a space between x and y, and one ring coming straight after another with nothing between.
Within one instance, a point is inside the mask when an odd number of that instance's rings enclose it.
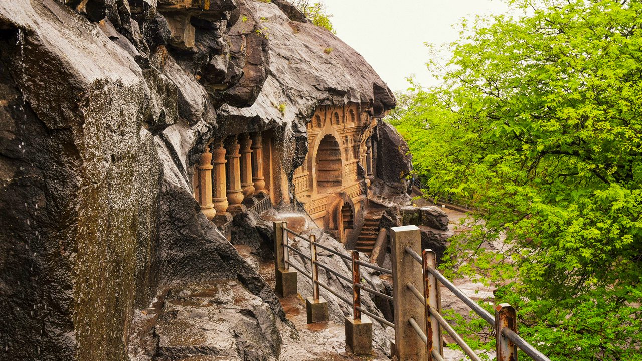
<instances>
[{"instance_id":1,"label":"huge wet dark rock cliff from left edge, including overhang above the caves","mask_svg":"<svg viewBox=\"0 0 642 361\"><path fill-rule=\"evenodd\" d=\"M0 358L128 360L137 310L214 279L284 321L191 169L213 134L286 128L296 165L314 109L348 102L395 104L284 0L0 2Z\"/></svg>"}]
</instances>

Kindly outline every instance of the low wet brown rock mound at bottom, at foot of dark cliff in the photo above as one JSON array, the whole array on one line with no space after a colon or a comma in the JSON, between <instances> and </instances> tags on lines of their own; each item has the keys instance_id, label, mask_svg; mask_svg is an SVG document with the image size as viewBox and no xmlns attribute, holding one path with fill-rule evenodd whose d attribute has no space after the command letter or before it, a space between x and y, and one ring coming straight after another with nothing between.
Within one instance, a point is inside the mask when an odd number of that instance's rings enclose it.
<instances>
[{"instance_id":1,"label":"low wet brown rock mound at bottom, at foot of dark cliff","mask_svg":"<svg viewBox=\"0 0 642 361\"><path fill-rule=\"evenodd\" d=\"M132 361L278 360L281 332L296 335L236 279L169 288L137 313Z\"/></svg>"}]
</instances>

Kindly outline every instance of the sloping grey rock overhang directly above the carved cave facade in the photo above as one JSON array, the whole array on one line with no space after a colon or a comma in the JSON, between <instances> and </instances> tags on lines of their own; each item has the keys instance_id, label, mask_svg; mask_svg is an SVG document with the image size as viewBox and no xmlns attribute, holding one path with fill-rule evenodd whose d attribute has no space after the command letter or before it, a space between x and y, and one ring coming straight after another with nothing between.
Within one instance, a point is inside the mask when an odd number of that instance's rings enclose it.
<instances>
[{"instance_id":1,"label":"sloping grey rock overhang directly above the carved cave facade","mask_svg":"<svg viewBox=\"0 0 642 361\"><path fill-rule=\"evenodd\" d=\"M257 128L266 128L305 124L319 105L357 103L375 118L395 107L392 91L357 51L311 24L286 1L238 4L241 14L252 17L241 15L229 34L254 32L267 40L268 75L252 105L221 105L218 115L223 121L261 119Z\"/></svg>"}]
</instances>

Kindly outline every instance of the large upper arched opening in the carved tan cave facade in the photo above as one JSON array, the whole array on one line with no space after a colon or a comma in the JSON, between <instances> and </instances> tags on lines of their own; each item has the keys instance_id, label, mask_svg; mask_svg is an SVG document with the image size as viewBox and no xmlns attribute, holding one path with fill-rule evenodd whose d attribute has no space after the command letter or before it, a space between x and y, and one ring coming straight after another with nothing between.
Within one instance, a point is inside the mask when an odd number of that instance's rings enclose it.
<instances>
[{"instance_id":1,"label":"large upper arched opening in the carved tan cave facade","mask_svg":"<svg viewBox=\"0 0 642 361\"><path fill-rule=\"evenodd\" d=\"M331 188L342 184L341 148L333 136L327 134L317 150L317 187Z\"/></svg>"}]
</instances>

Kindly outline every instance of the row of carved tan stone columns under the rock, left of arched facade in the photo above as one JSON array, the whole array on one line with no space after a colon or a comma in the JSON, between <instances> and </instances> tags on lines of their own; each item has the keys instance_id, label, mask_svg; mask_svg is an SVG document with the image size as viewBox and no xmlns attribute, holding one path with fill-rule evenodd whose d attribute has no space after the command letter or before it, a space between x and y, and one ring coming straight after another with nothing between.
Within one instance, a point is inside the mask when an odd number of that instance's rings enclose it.
<instances>
[{"instance_id":1,"label":"row of carved tan stone columns under the rock, left of arched facade","mask_svg":"<svg viewBox=\"0 0 642 361\"><path fill-rule=\"evenodd\" d=\"M240 142L239 142L240 140ZM196 198L207 219L218 225L266 195L261 133L211 143L196 166ZM244 204L245 203L245 204Z\"/></svg>"}]
</instances>

